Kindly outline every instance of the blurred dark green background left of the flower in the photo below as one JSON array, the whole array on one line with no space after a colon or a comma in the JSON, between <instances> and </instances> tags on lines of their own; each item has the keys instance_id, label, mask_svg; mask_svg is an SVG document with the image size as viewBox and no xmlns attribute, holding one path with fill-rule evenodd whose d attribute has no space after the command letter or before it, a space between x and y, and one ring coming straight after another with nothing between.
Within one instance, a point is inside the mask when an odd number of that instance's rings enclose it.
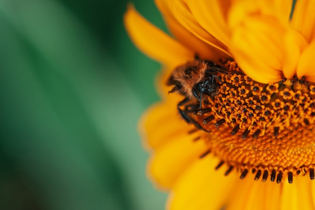
<instances>
[{"instance_id":1,"label":"blurred dark green background left of the flower","mask_svg":"<svg viewBox=\"0 0 315 210\"><path fill-rule=\"evenodd\" d=\"M161 66L128 39L129 3L0 0L0 209L164 208L137 132Z\"/></svg>"}]
</instances>

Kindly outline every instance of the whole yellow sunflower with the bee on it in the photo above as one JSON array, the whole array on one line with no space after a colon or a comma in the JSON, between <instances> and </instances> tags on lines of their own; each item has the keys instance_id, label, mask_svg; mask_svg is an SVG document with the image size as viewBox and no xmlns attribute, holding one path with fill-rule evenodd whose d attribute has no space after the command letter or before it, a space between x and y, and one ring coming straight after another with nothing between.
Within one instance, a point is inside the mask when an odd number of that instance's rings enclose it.
<instances>
[{"instance_id":1,"label":"whole yellow sunflower with the bee on it","mask_svg":"<svg viewBox=\"0 0 315 210\"><path fill-rule=\"evenodd\" d=\"M135 45L164 65L141 120L168 209L315 209L315 1L156 0Z\"/></svg>"}]
</instances>

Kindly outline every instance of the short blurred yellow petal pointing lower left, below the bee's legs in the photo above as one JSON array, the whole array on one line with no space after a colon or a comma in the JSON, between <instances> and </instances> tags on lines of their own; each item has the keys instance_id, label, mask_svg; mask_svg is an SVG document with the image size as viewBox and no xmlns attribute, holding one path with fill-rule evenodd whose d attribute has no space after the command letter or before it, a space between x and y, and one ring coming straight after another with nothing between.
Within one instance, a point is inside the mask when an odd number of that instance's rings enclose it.
<instances>
[{"instance_id":1,"label":"short blurred yellow petal pointing lower left, below the bee's legs","mask_svg":"<svg viewBox=\"0 0 315 210\"><path fill-rule=\"evenodd\" d=\"M187 130L182 129L177 136L156 148L148 164L149 177L160 187L171 188L189 165L207 150L204 141L194 141L196 137L198 133L188 135Z\"/></svg>"}]
</instances>

